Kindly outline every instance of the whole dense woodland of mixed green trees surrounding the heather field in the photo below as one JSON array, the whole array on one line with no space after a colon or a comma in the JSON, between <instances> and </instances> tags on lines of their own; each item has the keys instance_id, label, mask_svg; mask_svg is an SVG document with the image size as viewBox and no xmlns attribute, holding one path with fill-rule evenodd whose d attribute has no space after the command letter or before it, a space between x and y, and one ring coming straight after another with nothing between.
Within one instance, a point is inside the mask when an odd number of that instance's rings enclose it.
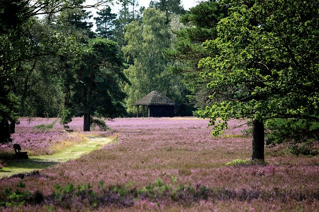
<instances>
[{"instance_id":1,"label":"whole dense woodland of mixed green trees surrounding the heather field","mask_svg":"<svg viewBox=\"0 0 319 212\"><path fill-rule=\"evenodd\" d=\"M210 118L218 135L250 120L253 159L267 144L311 152L319 135L317 0L0 0L0 140L18 117L83 116L83 130L133 116L159 90L178 116ZM86 9L102 8L89 22Z\"/></svg>"}]
</instances>

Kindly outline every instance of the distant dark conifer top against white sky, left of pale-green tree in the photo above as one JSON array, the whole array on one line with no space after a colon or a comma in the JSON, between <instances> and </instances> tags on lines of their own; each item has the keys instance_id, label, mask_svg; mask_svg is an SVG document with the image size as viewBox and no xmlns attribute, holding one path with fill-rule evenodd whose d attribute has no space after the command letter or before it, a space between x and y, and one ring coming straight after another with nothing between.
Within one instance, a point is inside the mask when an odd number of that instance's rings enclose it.
<instances>
[{"instance_id":1,"label":"distant dark conifer top against white sky, left of pale-green tree","mask_svg":"<svg viewBox=\"0 0 319 212\"><path fill-rule=\"evenodd\" d=\"M104 7L101 11L96 12L99 16L94 17L96 21L96 31L98 34L104 38L109 38L112 36L112 26L114 25L114 19L117 14L111 13L111 7Z\"/></svg>"}]
</instances>

